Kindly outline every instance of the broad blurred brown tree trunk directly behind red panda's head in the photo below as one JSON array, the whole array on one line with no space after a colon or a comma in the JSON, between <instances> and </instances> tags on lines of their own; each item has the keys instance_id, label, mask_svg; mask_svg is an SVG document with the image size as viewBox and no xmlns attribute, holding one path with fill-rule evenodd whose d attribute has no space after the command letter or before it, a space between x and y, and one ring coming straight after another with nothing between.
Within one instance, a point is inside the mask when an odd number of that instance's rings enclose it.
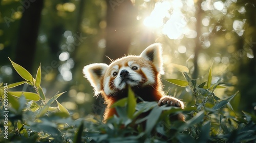
<instances>
[{"instance_id":1,"label":"broad blurred brown tree trunk directly behind red panda's head","mask_svg":"<svg viewBox=\"0 0 256 143\"><path fill-rule=\"evenodd\" d=\"M131 1L107 0L106 47L104 63L110 63L127 54L135 29L136 11ZM108 57L105 57L108 56Z\"/></svg>"}]
</instances>

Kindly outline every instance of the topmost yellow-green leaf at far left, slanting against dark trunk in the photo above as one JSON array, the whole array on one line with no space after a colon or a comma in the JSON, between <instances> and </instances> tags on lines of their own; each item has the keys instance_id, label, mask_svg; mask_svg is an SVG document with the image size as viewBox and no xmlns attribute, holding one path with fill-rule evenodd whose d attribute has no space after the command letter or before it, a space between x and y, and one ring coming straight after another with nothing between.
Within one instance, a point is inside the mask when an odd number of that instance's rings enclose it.
<instances>
[{"instance_id":1,"label":"topmost yellow-green leaf at far left, slanting against dark trunk","mask_svg":"<svg viewBox=\"0 0 256 143\"><path fill-rule=\"evenodd\" d=\"M23 79L30 81L33 83L33 77L31 76L31 74L29 73L28 70L26 70L24 67L16 64L15 62L13 62L10 58L9 60L12 63L12 66L14 67L14 69L17 71L17 73L19 74L20 77L22 77Z\"/></svg>"}]
</instances>

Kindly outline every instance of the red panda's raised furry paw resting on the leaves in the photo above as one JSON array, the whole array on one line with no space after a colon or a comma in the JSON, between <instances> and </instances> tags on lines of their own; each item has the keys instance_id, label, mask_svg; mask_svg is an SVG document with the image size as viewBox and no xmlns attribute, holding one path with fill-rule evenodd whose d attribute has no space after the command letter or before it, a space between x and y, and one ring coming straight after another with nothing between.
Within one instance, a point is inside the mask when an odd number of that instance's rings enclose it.
<instances>
[{"instance_id":1,"label":"red panda's raised furry paw resting on the leaves","mask_svg":"<svg viewBox=\"0 0 256 143\"><path fill-rule=\"evenodd\" d=\"M177 98L169 97L169 96L162 97L159 100L158 105L159 106L163 106L163 105L176 106L176 107L180 107L181 109L184 109L184 104L182 101L178 100Z\"/></svg>"}]
</instances>

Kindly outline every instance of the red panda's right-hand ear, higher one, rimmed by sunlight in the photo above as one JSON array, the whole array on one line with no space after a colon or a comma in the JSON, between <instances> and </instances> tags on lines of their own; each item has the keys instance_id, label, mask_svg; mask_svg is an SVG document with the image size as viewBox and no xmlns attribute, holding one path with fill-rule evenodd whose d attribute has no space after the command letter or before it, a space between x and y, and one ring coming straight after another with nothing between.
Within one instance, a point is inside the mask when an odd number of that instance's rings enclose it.
<instances>
[{"instance_id":1,"label":"red panda's right-hand ear, higher one, rimmed by sunlight","mask_svg":"<svg viewBox=\"0 0 256 143\"><path fill-rule=\"evenodd\" d=\"M162 45L160 43L154 43L140 54L140 56L148 61L153 62L157 71L160 74L164 74L163 61L162 61Z\"/></svg>"}]
</instances>

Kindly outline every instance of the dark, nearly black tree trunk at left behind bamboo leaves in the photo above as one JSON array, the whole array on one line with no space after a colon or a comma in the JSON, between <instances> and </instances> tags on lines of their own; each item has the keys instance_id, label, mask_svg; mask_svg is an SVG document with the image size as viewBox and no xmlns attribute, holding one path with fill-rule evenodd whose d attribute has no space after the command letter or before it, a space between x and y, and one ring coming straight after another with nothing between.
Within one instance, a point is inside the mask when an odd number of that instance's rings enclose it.
<instances>
[{"instance_id":1,"label":"dark, nearly black tree trunk at left behind bamboo leaves","mask_svg":"<svg viewBox=\"0 0 256 143\"><path fill-rule=\"evenodd\" d=\"M24 13L20 20L18 32L15 62L32 72L36 50L36 41L40 24L43 0L24 3ZM14 82L22 80L19 76L14 77Z\"/></svg>"}]
</instances>

